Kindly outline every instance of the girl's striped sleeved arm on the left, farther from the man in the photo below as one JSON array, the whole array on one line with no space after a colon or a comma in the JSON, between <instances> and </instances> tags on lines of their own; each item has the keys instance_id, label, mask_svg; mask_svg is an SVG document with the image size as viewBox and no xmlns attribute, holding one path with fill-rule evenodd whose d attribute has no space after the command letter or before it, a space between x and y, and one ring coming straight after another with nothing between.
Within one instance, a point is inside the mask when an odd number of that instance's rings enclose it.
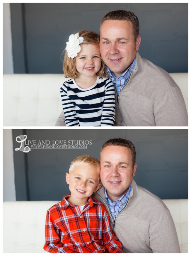
<instances>
[{"instance_id":1,"label":"girl's striped sleeved arm on the left, farther from the man","mask_svg":"<svg viewBox=\"0 0 191 256\"><path fill-rule=\"evenodd\" d=\"M80 126L78 118L76 116L76 110L73 102L68 97L67 85L63 84L60 88L62 107L65 115L66 126Z\"/></svg>"}]
</instances>

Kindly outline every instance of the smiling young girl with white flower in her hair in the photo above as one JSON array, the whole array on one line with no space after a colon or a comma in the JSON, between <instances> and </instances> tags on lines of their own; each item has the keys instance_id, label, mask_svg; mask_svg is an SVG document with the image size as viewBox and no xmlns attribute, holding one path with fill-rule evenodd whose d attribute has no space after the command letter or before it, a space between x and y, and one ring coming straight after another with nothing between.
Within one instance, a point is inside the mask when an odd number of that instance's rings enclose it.
<instances>
[{"instance_id":1,"label":"smiling young girl with white flower in her hair","mask_svg":"<svg viewBox=\"0 0 191 256\"><path fill-rule=\"evenodd\" d=\"M105 73L99 35L82 30L70 35L63 71L68 79L60 88L66 126L113 126L115 89Z\"/></svg>"}]
</instances>

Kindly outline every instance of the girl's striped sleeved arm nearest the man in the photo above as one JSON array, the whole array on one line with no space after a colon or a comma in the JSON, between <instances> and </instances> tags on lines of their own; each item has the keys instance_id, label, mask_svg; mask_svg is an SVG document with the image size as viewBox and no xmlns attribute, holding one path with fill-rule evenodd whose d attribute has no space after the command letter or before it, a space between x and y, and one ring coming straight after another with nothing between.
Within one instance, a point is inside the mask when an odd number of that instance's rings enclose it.
<instances>
[{"instance_id":1,"label":"girl's striped sleeved arm nearest the man","mask_svg":"<svg viewBox=\"0 0 191 256\"><path fill-rule=\"evenodd\" d=\"M110 79L106 81L105 88L101 126L113 126L115 122L115 88Z\"/></svg>"}]
</instances>

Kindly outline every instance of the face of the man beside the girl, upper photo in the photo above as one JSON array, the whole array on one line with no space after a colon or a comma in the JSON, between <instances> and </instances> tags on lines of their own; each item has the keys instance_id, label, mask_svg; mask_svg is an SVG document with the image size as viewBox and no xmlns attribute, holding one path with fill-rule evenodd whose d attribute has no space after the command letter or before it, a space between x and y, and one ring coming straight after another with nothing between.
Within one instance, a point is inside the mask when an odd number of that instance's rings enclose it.
<instances>
[{"instance_id":1,"label":"face of the man beside the girl, upper photo","mask_svg":"<svg viewBox=\"0 0 191 256\"><path fill-rule=\"evenodd\" d=\"M105 20L100 27L100 52L103 61L116 77L121 76L139 50L140 36L134 40L128 20Z\"/></svg>"}]
</instances>

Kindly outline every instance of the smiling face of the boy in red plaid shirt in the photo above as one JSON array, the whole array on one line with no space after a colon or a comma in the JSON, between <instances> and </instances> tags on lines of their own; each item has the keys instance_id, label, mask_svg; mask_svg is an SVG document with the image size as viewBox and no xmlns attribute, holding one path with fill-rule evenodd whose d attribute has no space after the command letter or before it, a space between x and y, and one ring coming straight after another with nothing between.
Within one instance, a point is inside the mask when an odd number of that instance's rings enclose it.
<instances>
[{"instance_id":1,"label":"smiling face of the boy in red plaid shirt","mask_svg":"<svg viewBox=\"0 0 191 256\"><path fill-rule=\"evenodd\" d=\"M97 168L88 164L77 165L66 173L66 182L71 192L68 202L78 206L86 204L88 197L101 187Z\"/></svg>"}]
</instances>

